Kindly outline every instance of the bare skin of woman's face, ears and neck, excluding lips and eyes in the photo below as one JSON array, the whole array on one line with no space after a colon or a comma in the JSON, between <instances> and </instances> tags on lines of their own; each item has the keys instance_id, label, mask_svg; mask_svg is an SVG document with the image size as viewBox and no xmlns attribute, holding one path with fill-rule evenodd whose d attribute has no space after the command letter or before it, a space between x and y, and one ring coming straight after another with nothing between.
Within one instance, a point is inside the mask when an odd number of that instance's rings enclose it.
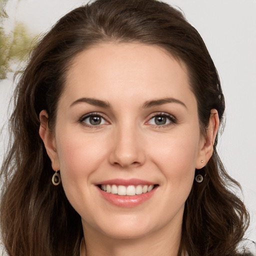
<instances>
[{"instance_id":1,"label":"bare skin of woman's face, ears and neck, excluding lips and eyes","mask_svg":"<svg viewBox=\"0 0 256 256\"><path fill-rule=\"evenodd\" d=\"M81 97L110 107L77 102ZM146 105L163 98L176 101ZM82 119L91 112L103 116L99 125ZM164 114L171 119L159 125L154 117ZM47 129L47 117L42 110L39 133L81 216L86 255L176 255L194 171L210 158L218 128L212 109L206 135L200 134L185 65L157 46L98 44L73 59L54 132ZM135 207L109 203L95 186L134 177L158 184Z\"/></svg>"}]
</instances>

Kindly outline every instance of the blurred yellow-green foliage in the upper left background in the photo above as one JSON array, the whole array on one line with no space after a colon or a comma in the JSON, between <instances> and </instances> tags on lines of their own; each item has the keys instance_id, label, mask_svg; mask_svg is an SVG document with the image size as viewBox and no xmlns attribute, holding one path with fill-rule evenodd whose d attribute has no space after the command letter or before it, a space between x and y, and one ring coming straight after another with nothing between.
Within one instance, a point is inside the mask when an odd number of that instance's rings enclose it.
<instances>
[{"instance_id":1,"label":"blurred yellow-green foliage in the upper left background","mask_svg":"<svg viewBox=\"0 0 256 256\"><path fill-rule=\"evenodd\" d=\"M32 37L21 22L15 22L10 33L4 31L3 20L8 18L4 8L6 2L7 0L0 0L0 80L6 78L8 71L12 71L11 63L26 59L32 48Z\"/></svg>"}]
</instances>

